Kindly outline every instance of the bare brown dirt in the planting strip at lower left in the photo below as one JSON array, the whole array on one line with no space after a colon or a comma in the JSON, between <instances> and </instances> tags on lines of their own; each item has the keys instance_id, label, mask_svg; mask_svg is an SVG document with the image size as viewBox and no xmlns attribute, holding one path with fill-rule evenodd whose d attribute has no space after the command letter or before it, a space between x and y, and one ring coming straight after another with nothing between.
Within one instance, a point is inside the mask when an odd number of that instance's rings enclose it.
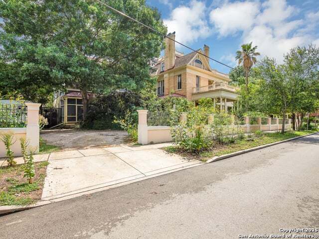
<instances>
[{"instance_id":1,"label":"bare brown dirt in the planting strip at lower left","mask_svg":"<svg viewBox=\"0 0 319 239\"><path fill-rule=\"evenodd\" d=\"M34 201L40 200L42 196L42 189L44 185L44 178L46 176L46 168L48 162L36 162L34 163L35 176L33 182L36 182L38 189L31 192L16 192L17 197L30 197ZM1 167L0 168L0 192L8 192L11 186L27 183L27 179L23 178L23 165L15 165L13 167Z\"/></svg>"}]
</instances>

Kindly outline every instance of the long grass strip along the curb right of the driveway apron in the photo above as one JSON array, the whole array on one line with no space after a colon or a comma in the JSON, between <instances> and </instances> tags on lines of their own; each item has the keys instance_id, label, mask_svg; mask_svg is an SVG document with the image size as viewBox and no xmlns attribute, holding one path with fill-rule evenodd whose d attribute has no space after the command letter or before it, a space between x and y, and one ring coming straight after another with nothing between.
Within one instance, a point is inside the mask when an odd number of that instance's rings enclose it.
<instances>
[{"instance_id":1,"label":"long grass strip along the curb right of the driveway apron","mask_svg":"<svg viewBox=\"0 0 319 239\"><path fill-rule=\"evenodd\" d=\"M196 155L183 153L178 146L165 147L164 150L171 153L178 153L182 156L196 157L196 159L199 159L205 162L214 156L220 156L223 154L233 153L240 150L257 147L257 146L265 145L268 143L274 143L274 142L278 142L285 139L294 138L297 136L302 136L302 135L306 135L306 134L314 133L314 132L316 131L312 131L312 130L292 131L292 132L286 132L285 134L281 134L279 132L264 133L262 137L254 137L253 141L248 141L246 140L246 138L244 138L241 140L236 140L234 143L230 143L230 144L223 144L223 145L217 144L210 150L202 151Z\"/></svg>"}]
</instances>

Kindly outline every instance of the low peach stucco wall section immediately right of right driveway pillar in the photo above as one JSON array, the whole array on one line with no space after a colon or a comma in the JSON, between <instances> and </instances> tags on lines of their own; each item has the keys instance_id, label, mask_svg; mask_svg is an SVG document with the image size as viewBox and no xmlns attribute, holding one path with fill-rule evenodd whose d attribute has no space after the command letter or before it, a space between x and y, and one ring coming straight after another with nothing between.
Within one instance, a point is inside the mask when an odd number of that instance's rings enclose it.
<instances>
[{"instance_id":1,"label":"low peach stucco wall section immediately right of right driveway pillar","mask_svg":"<svg viewBox=\"0 0 319 239\"><path fill-rule=\"evenodd\" d=\"M148 143L164 143L172 140L170 127L148 126Z\"/></svg>"}]
</instances>

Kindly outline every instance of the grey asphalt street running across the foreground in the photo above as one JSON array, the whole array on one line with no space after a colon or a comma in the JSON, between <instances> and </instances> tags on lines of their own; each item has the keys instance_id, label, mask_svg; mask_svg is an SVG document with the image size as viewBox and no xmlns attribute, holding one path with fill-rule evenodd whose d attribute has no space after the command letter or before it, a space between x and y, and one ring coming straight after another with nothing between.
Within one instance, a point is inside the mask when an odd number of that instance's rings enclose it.
<instances>
[{"instance_id":1,"label":"grey asphalt street running across the foreground","mask_svg":"<svg viewBox=\"0 0 319 239\"><path fill-rule=\"evenodd\" d=\"M293 228L319 228L319 134L0 217L1 239L236 239Z\"/></svg>"}]
</instances>

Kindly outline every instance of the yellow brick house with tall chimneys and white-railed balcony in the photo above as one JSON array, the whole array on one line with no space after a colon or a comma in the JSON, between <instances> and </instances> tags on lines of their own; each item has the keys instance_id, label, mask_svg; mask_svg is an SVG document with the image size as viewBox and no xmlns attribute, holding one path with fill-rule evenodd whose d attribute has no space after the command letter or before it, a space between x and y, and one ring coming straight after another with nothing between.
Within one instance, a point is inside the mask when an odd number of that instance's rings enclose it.
<instances>
[{"instance_id":1,"label":"yellow brick house with tall chimneys and white-railed balcony","mask_svg":"<svg viewBox=\"0 0 319 239\"><path fill-rule=\"evenodd\" d=\"M175 39L175 32L168 37ZM154 66L158 77L159 97L184 97L194 104L201 98L213 99L214 106L226 113L238 107L236 88L228 85L231 81L227 74L212 69L209 65L209 47L187 55L175 50L175 42L165 38L164 56ZM237 104L236 104L237 102Z\"/></svg>"}]
</instances>

